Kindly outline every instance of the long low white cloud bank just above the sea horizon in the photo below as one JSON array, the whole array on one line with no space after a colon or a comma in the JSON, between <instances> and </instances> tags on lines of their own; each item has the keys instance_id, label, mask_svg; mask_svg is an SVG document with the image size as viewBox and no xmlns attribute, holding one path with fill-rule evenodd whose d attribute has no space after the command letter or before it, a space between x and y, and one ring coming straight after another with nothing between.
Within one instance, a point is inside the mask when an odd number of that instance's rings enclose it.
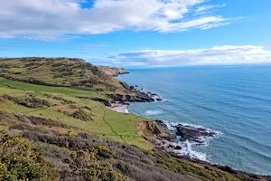
<instances>
[{"instance_id":1,"label":"long low white cloud bank just above the sea horizon","mask_svg":"<svg viewBox=\"0 0 271 181\"><path fill-rule=\"evenodd\" d=\"M261 46L215 46L210 49L165 51L142 50L111 54L104 57L106 64L121 66L182 66L213 64L271 63L271 52ZM100 61L103 61L100 60Z\"/></svg>"}]
</instances>

